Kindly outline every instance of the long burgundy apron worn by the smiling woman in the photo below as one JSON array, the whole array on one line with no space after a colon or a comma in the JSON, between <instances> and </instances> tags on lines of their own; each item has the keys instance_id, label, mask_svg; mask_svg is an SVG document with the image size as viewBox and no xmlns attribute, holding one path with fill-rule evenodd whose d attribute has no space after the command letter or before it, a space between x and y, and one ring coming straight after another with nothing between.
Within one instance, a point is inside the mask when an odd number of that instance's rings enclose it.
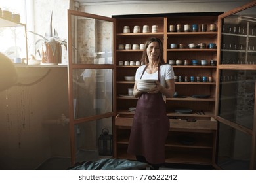
<instances>
[{"instance_id":1,"label":"long burgundy apron worn by the smiling woman","mask_svg":"<svg viewBox=\"0 0 256 183\"><path fill-rule=\"evenodd\" d=\"M146 67L142 75L145 71ZM160 82L160 67L158 67L158 82ZM161 93L142 93L137 101L133 118L128 153L144 156L151 164L164 163L168 131L169 118Z\"/></svg>"}]
</instances>

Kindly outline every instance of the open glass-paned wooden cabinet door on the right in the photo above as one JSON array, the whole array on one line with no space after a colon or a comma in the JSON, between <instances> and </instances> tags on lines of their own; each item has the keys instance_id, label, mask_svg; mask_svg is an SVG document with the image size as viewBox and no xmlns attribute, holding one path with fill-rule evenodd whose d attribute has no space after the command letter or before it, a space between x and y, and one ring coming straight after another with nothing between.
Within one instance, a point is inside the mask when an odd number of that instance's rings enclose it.
<instances>
[{"instance_id":1,"label":"open glass-paned wooden cabinet door on the right","mask_svg":"<svg viewBox=\"0 0 256 183\"><path fill-rule=\"evenodd\" d=\"M256 169L255 82L256 2L219 16L220 58L217 65L221 169Z\"/></svg>"}]
</instances>

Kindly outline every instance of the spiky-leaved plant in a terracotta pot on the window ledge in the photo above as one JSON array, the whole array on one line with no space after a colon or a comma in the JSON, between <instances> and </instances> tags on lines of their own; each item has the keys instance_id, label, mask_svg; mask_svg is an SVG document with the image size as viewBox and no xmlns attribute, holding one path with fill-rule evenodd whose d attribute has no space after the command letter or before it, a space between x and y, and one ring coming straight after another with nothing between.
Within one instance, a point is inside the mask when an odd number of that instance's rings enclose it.
<instances>
[{"instance_id":1,"label":"spiky-leaved plant in a terracotta pot on the window ledge","mask_svg":"<svg viewBox=\"0 0 256 183\"><path fill-rule=\"evenodd\" d=\"M45 33L45 36L35 33L33 31L28 31L33 33L41 39L35 42L35 53L38 53L42 59L42 63L58 64L61 63L62 58L62 46L67 49L67 41L61 40L58 37L58 33L53 27L53 11L51 12L51 19L49 24L49 33Z\"/></svg>"}]
</instances>

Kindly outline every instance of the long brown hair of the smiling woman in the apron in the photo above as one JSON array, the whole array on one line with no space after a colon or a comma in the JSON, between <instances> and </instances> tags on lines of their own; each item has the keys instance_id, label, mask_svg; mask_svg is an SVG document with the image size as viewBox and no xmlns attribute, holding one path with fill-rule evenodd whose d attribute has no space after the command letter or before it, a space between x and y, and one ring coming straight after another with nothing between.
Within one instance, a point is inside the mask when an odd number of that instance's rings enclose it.
<instances>
[{"instance_id":1,"label":"long brown hair of the smiling woman in the apron","mask_svg":"<svg viewBox=\"0 0 256 183\"><path fill-rule=\"evenodd\" d=\"M159 48L160 48L160 54L158 57L158 66L165 64L165 61L163 59L163 42L161 42L160 39L157 37L150 37L146 42L144 42L144 49L143 49L143 54L141 61L144 62L145 65L148 65L148 55L146 53L146 49L148 48L148 45L150 45L151 42L158 42Z\"/></svg>"}]
</instances>

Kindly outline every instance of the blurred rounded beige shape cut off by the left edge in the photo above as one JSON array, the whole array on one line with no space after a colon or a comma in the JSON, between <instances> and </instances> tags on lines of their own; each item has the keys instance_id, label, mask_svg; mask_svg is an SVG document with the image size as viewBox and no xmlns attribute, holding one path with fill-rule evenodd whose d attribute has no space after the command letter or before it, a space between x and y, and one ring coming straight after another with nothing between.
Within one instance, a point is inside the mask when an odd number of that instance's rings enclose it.
<instances>
[{"instance_id":1,"label":"blurred rounded beige shape cut off by the left edge","mask_svg":"<svg viewBox=\"0 0 256 183\"><path fill-rule=\"evenodd\" d=\"M0 53L0 92L13 86L17 80L18 73L11 59Z\"/></svg>"}]
</instances>

